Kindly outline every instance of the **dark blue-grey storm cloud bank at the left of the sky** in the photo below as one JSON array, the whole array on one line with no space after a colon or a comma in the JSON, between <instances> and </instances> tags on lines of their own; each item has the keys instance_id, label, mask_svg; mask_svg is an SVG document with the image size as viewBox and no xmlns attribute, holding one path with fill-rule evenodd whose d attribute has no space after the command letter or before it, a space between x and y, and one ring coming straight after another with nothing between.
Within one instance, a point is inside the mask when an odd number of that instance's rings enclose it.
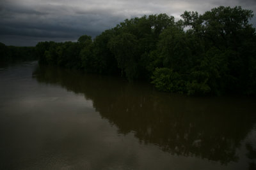
<instances>
[{"instance_id":1,"label":"dark blue-grey storm cloud bank at the left of the sky","mask_svg":"<svg viewBox=\"0 0 256 170\"><path fill-rule=\"evenodd\" d=\"M12 3L2 4L0 41L12 45L12 41L7 41L7 35L10 35L10 39L24 36L49 41L56 41L56 38L76 40L83 34L97 36L123 20L118 16L106 17L109 13L104 10L83 11L65 5L41 5L34 8Z\"/></svg>"}]
</instances>

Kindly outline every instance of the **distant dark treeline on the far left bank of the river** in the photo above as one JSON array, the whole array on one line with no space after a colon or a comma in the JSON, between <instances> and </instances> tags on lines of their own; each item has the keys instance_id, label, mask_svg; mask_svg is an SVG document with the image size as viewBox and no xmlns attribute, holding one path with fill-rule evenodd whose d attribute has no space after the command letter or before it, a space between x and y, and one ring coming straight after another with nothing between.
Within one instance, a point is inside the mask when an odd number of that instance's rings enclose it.
<instances>
[{"instance_id":1,"label":"distant dark treeline on the far left bank of the river","mask_svg":"<svg viewBox=\"0 0 256 170\"><path fill-rule=\"evenodd\" d=\"M36 60L35 46L6 46L0 43L0 62Z\"/></svg>"}]
</instances>

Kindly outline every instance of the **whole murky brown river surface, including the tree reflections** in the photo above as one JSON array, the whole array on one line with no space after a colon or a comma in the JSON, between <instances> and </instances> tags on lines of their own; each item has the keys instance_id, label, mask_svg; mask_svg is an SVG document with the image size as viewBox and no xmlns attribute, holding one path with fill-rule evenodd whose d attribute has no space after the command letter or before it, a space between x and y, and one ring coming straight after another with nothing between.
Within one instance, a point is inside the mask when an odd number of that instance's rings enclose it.
<instances>
[{"instance_id":1,"label":"whole murky brown river surface, including the tree reflections","mask_svg":"<svg viewBox=\"0 0 256 170\"><path fill-rule=\"evenodd\" d=\"M23 62L0 68L0 169L255 169L256 100Z\"/></svg>"}]
</instances>

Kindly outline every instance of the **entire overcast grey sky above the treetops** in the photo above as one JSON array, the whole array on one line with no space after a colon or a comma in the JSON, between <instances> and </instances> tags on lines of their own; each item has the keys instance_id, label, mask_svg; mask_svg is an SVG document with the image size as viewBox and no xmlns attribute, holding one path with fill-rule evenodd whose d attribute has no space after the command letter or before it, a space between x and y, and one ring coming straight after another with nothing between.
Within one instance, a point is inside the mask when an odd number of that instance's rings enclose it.
<instances>
[{"instance_id":1,"label":"entire overcast grey sky above the treetops","mask_svg":"<svg viewBox=\"0 0 256 170\"><path fill-rule=\"evenodd\" d=\"M0 42L34 46L76 41L83 34L95 37L125 18L157 13L180 18L185 10L204 13L218 6L256 12L256 0L0 0Z\"/></svg>"}]
</instances>

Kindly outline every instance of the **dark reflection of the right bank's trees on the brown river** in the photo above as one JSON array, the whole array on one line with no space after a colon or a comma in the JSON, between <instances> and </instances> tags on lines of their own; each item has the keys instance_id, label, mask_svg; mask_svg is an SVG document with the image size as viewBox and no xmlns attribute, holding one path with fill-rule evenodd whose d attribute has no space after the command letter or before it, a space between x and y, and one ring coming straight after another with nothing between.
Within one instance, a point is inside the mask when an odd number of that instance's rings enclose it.
<instances>
[{"instance_id":1,"label":"dark reflection of the right bank's trees on the brown river","mask_svg":"<svg viewBox=\"0 0 256 170\"><path fill-rule=\"evenodd\" d=\"M84 94L120 134L133 132L141 143L176 155L236 162L236 149L255 123L249 99L177 96L143 83L49 66L38 66L33 76Z\"/></svg>"}]
</instances>

